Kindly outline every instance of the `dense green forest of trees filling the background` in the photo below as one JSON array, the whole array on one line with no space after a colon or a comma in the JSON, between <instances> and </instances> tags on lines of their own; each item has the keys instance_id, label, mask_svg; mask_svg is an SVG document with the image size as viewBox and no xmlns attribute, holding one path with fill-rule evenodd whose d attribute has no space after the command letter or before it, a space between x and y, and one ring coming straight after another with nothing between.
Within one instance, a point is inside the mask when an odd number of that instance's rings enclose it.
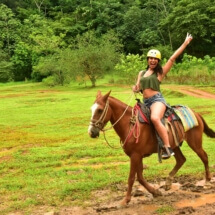
<instances>
[{"instance_id":1,"label":"dense green forest of trees filling the background","mask_svg":"<svg viewBox=\"0 0 215 215\"><path fill-rule=\"evenodd\" d=\"M150 48L159 49L165 60L187 32L194 39L186 59L209 62L214 71L214 3L0 0L0 82L45 80L64 85L88 78L95 86L107 72L122 70L121 62L129 56L141 64Z\"/></svg>"}]
</instances>

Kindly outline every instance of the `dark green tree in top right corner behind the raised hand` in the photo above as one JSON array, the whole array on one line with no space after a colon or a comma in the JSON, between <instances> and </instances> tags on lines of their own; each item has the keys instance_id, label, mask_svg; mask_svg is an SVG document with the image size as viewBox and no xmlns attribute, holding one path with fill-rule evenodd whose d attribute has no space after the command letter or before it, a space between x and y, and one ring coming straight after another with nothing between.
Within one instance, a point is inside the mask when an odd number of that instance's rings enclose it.
<instances>
[{"instance_id":1,"label":"dark green tree in top right corner behind the raised hand","mask_svg":"<svg viewBox=\"0 0 215 215\"><path fill-rule=\"evenodd\" d=\"M160 23L161 28L169 26L172 32L173 45L178 47L182 38L189 32L193 35L191 53L203 57L214 55L215 49L215 7L213 0L179 0L169 15Z\"/></svg>"}]
</instances>

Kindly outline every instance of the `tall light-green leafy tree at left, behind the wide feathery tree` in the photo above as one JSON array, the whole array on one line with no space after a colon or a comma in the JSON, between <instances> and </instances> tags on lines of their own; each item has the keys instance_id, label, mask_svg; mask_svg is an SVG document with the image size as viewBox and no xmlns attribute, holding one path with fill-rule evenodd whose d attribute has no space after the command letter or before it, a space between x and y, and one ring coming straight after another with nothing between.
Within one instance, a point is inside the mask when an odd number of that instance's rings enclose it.
<instances>
[{"instance_id":1,"label":"tall light-green leafy tree at left, behind the wide feathery tree","mask_svg":"<svg viewBox=\"0 0 215 215\"><path fill-rule=\"evenodd\" d=\"M38 71L37 67L42 68L45 66L44 62L50 62L50 59L60 52L62 38L55 34L53 22L42 16L31 16L29 20L26 20L25 25L30 29L26 43L31 47L32 78L41 81L46 76L41 75L42 72ZM46 73L43 72L43 74Z\"/></svg>"}]
</instances>

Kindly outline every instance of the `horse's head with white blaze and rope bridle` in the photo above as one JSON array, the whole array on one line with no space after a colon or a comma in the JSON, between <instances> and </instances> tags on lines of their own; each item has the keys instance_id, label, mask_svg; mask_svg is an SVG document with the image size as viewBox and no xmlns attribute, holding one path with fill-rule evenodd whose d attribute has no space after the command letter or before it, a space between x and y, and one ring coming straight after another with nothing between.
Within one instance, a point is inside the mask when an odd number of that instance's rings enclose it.
<instances>
[{"instance_id":1,"label":"horse's head with white blaze and rope bridle","mask_svg":"<svg viewBox=\"0 0 215 215\"><path fill-rule=\"evenodd\" d=\"M101 92L98 91L96 101L91 107L92 117L88 128L88 133L92 138L99 137L99 132L104 128L105 124L108 122L107 117L109 108L108 97L110 95L110 92L111 91L109 91L107 94L103 96Z\"/></svg>"}]
</instances>

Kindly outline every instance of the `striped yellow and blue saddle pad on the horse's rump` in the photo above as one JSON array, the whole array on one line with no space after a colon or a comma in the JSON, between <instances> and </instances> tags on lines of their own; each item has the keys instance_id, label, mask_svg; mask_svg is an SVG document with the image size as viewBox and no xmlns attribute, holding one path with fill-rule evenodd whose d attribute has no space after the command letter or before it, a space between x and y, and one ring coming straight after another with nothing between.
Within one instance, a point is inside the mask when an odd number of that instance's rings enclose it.
<instances>
[{"instance_id":1,"label":"striped yellow and blue saddle pad on the horse's rump","mask_svg":"<svg viewBox=\"0 0 215 215\"><path fill-rule=\"evenodd\" d=\"M180 106L174 106L173 109L175 113L178 115L178 117L181 119L185 132L195 126L198 126L198 121L196 119L196 116L189 107L180 105Z\"/></svg>"}]
</instances>

